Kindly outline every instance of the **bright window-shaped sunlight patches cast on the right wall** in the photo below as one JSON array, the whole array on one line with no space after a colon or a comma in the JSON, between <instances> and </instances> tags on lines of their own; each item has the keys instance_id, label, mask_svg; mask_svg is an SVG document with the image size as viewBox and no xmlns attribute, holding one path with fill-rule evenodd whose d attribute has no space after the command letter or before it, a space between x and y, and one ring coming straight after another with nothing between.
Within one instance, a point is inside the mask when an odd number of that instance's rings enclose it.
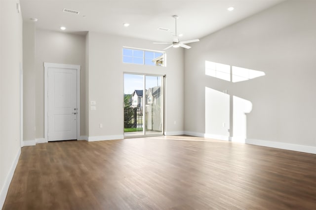
<instances>
[{"instance_id":1,"label":"bright window-shaped sunlight patches cast on the right wall","mask_svg":"<svg viewBox=\"0 0 316 210\"><path fill-rule=\"evenodd\" d=\"M205 75L237 83L264 76L265 73L206 60ZM251 101L229 95L227 90L221 92L205 87L205 137L244 143L247 128L245 114L251 110Z\"/></svg>"}]
</instances>

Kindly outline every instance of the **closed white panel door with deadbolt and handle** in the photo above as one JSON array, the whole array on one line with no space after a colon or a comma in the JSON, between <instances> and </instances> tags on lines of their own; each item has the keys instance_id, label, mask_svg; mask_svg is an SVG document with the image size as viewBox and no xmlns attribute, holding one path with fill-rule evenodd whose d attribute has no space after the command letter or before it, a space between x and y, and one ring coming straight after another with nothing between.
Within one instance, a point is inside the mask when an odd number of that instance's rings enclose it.
<instances>
[{"instance_id":1,"label":"closed white panel door with deadbolt and handle","mask_svg":"<svg viewBox=\"0 0 316 210\"><path fill-rule=\"evenodd\" d=\"M48 141L77 139L77 69L48 70Z\"/></svg>"}]
</instances>

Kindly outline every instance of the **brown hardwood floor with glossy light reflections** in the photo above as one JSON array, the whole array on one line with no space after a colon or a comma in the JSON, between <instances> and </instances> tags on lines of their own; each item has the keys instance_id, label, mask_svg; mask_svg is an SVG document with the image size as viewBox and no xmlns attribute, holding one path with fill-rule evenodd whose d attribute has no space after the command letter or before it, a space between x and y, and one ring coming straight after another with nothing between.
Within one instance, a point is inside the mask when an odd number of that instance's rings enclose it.
<instances>
[{"instance_id":1,"label":"brown hardwood floor with glossy light reflections","mask_svg":"<svg viewBox=\"0 0 316 210\"><path fill-rule=\"evenodd\" d=\"M188 136L22 148L3 210L316 210L316 155Z\"/></svg>"}]
</instances>

